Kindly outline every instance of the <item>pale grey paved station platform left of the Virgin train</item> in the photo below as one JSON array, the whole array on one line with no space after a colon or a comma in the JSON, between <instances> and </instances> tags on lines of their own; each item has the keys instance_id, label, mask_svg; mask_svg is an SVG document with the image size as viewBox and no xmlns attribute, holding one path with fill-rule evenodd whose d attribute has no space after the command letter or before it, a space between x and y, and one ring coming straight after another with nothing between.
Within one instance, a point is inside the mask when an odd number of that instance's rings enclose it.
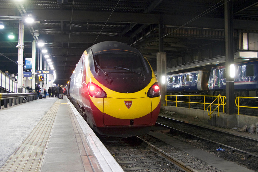
<instances>
[{"instance_id":1,"label":"pale grey paved station platform left of the Virgin train","mask_svg":"<svg viewBox=\"0 0 258 172\"><path fill-rule=\"evenodd\" d=\"M47 97L0 110L0 171L123 171L76 108Z\"/></svg>"}]
</instances>

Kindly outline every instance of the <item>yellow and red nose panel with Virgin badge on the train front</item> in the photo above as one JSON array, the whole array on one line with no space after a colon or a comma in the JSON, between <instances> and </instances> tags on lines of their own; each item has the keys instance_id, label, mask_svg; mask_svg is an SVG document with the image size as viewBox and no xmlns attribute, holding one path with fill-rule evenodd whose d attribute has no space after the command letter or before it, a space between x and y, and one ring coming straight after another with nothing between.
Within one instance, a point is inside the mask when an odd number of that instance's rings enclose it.
<instances>
[{"instance_id":1,"label":"yellow and red nose panel with Virgin badge on the train front","mask_svg":"<svg viewBox=\"0 0 258 172\"><path fill-rule=\"evenodd\" d=\"M114 106L115 105L115 106ZM152 115L151 99L104 99L104 125L148 125Z\"/></svg>"}]
</instances>

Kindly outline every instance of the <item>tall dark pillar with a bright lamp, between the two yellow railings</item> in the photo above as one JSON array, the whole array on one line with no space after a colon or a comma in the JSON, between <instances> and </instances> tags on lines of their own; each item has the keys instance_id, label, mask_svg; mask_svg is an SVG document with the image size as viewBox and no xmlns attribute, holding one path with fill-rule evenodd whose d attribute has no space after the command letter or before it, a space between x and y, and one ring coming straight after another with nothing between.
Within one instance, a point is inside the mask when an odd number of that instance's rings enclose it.
<instances>
[{"instance_id":1,"label":"tall dark pillar with a bright lamp, between the two yellow railings","mask_svg":"<svg viewBox=\"0 0 258 172\"><path fill-rule=\"evenodd\" d=\"M232 1L224 0L225 13L225 64L226 64L226 114L234 114L234 78L229 76L229 68L234 64L233 6Z\"/></svg>"}]
</instances>

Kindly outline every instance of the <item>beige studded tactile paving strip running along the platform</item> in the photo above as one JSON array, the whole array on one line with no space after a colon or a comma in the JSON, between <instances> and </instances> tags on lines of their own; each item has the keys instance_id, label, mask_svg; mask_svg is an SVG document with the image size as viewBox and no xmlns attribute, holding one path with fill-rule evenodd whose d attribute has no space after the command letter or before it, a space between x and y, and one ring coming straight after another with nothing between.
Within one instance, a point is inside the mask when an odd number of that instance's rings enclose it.
<instances>
[{"instance_id":1,"label":"beige studded tactile paving strip running along the platform","mask_svg":"<svg viewBox=\"0 0 258 172\"><path fill-rule=\"evenodd\" d=\"M40 171L60 100L47 111L37 126L7 159L0 171Z\"/></svg>"}]
</instances>

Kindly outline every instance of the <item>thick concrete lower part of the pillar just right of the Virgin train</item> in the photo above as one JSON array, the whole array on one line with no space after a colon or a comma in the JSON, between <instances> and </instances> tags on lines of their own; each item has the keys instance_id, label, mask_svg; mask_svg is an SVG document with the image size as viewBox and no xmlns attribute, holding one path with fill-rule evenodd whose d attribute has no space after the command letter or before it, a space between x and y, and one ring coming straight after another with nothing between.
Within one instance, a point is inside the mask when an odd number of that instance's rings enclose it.
<instances>
[{"instance_id":1,"label":"thick concrete lower part of the pillar just right of the Virgin train","mask_svg":"<svg viewBox=\"0 0 258 172\"><path fill-rule=\"evenodd\" d=\"M165 95L166 95L166 53L158 52L157 53L157 80L160 88L161 94L161 104L166 104Z\"/></svg>"}]
</instances>

